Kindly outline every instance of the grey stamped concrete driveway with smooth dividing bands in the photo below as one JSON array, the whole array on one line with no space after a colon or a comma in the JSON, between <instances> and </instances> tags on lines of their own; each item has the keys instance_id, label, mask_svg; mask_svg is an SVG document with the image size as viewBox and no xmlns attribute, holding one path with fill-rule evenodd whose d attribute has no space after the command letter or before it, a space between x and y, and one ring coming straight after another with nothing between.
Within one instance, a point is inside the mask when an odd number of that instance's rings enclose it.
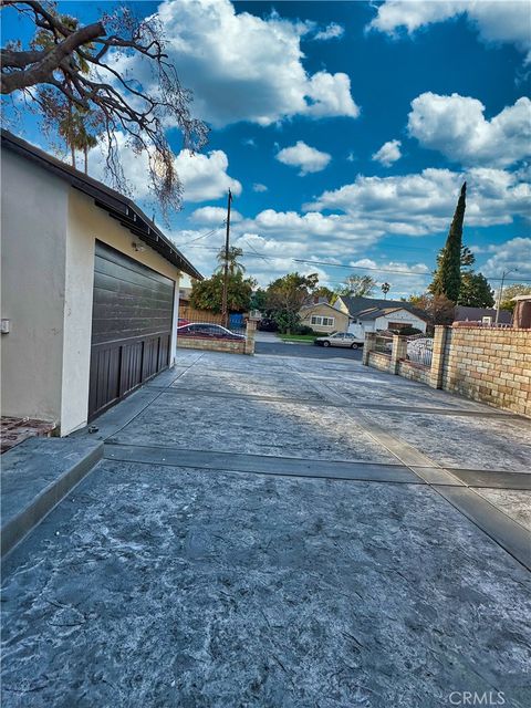
<instances>
[{"instance_id":1,"label":"grey stamped concrete driveway with smooth dividing bands","mask_svg":"<svg viewBox=\"0 0 531 708\"><path fill-rule=\"evenodd\" d=\"M181 352L97 426L6 564L6 708L531 705L529 420Z\"/></svg>"}]
</instances>

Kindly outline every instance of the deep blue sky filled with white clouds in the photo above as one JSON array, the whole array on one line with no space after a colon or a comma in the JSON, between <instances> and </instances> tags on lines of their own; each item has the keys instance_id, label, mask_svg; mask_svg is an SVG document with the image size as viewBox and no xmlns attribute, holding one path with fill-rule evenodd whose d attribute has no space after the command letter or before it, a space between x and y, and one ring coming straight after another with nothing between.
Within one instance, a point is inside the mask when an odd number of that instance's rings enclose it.
<instances>
[{"instance_id":1,"label":"deep blue sky filled with white clouds","mask_svg":"<svg viewBox=\"0 0 531 708\"><path fill-rule=\"evenodd\" d=\"M60 3L84 22L112 7ZM529 3L133 7L160 14L194 111L211 126L195 157L168 132L185 185L168 233L204 273L231 187L233 242L260 284L296 269L331 287L357 272L389 282L396 298L421 292L467 179L464 237L478 270L493 287L514 267L511 278L531 282ZM13 20L2 31L28 37ZM145 76L139 62L128 70ZM30 117L19 133L45 145ZM145 205L145 169L128 157ZM103 177L97 148L90 170Z\"/></svg>"}]
</instances>

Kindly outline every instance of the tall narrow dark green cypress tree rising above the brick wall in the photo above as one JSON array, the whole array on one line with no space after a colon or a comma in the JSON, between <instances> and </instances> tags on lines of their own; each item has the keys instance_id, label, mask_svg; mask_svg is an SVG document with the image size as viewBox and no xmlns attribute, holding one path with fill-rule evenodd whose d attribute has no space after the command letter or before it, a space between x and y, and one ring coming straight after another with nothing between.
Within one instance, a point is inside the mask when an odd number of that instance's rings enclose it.
<instances>
[{"instance_id":1,"label":"tall narrow dark green cypress tree rising above the brick wall","mask_svg":"<svg viewBox=\"0 0 531 708\"><path fill-rule=\"evenodd\" d=\"M446 295L452 302L457 302L461 288L462 221L465 218L466 195L467 183L461 187L448 238L435 272L434 282L429 289L435 295Z\"/></svg>"}]
</instances>

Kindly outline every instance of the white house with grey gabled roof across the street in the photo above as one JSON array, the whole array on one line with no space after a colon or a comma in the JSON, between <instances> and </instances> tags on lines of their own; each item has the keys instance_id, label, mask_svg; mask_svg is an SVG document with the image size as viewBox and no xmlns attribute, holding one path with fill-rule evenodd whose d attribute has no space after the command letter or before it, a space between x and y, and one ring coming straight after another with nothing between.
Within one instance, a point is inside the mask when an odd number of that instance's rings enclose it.
<instances>
[{"instance_id":1,"label":"white house with grey gabled roof across the street","mask_svg":"<svg viewBox=\"0 0 531 708\"><path fill-rule=\"evenodd\" d=\"M428 316L408 302L350 298L340 295L334 303L340 312L350 315L348 332L363 336L366 332L415 327L426 332Z\"/></svg>"}]
</instances>

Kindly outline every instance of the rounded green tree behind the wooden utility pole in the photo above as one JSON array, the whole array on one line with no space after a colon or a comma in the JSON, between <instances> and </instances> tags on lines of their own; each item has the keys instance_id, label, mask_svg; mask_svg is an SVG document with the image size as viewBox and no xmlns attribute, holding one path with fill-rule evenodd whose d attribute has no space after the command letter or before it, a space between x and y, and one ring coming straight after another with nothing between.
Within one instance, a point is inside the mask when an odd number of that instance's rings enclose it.
<instances>
[{"instance_id":1,"label":"rounded green tree behind the wooden utility pole","mask_svg":"<svg viewBox=\"0 0 531 708\"><path fill-rule=\"evenodd\" d=\"M251 305L252 290L257 282L252 278L243 278L240 272L229 275L227 288L227 306L229 312L247 312ZM196 310L220 313L222 306L223 274L215 273L211 278L195 281L191 288L190 305Z\"/></svg>"}]
</instances>

